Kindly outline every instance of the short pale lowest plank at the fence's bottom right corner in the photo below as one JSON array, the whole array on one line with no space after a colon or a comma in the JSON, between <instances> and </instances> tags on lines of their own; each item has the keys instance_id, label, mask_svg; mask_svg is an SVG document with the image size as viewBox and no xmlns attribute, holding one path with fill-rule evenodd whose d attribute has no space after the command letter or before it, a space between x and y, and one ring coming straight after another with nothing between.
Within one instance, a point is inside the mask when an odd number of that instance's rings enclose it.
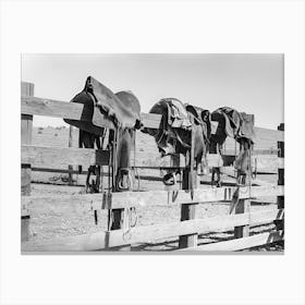
<instances>
[{"instance_id":1,"label":"short pale lowest plank at the fence's bottom right corner","mask_svg":"<svg viewBox=\"0 0 305 305\"><path fill-rule=\"evenodd\" d=\"M200 245L194 248L185 248L181 251L190 251L190 252L192 251L241 251L241 249L256 247L256 246L270 244L283 240L284 240L283 232L276 231L276 232L256 234L243 239Z\"/></svg>"}]
</instances>

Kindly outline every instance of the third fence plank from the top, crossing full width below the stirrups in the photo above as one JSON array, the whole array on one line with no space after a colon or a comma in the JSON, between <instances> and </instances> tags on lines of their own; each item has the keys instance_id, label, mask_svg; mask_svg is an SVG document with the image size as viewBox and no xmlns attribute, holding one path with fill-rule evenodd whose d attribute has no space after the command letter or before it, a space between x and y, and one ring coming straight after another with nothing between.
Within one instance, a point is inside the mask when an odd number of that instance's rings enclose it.
<instances>
[{"instance_id":1,"label":"third fence plank from the top, crossing full width below the stirrups","mask_svg":"<svg viewBox=\"0 0 305 305\"><path fill-rule=\"evenodd\" d=\"M52 196L22 196L21 200L33 216L39 213L59 212L70 215L91 209L124 208L124 207L152 207L176 206L192 203L212 203L231 200L236 187L215 187L212 190L194 190L192 198L188 191L149 191L113 193L112 203L109 203L106 194L82 195L52 195ZM259 196L283 195L283 186L253 186L242 190L240 198L256 198ZM44 204L41 204L44 203Z\"/></svg>"}]
</instances>

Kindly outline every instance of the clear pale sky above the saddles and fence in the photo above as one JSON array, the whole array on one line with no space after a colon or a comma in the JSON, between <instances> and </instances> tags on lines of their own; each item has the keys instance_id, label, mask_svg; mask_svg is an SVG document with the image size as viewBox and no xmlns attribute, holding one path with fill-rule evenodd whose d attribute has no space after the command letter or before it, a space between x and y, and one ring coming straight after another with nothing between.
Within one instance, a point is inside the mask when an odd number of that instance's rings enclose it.
<instances>
[{"instance_id":1,"label":"clear pale sky above the saddles and fence","mask_svg":"<svg viewBox=\"0 0 305 305\"><path fill-rule=\"evenodd\" d=\"M113 93L132 90L142 112L175 97L210 111L222 106L255 114L255 125L283 122L283 54L22 54L22 81L35 96L71 100L94 76ZM66 125L34 117L35 126Z\"/></svg>"}]
</instances>

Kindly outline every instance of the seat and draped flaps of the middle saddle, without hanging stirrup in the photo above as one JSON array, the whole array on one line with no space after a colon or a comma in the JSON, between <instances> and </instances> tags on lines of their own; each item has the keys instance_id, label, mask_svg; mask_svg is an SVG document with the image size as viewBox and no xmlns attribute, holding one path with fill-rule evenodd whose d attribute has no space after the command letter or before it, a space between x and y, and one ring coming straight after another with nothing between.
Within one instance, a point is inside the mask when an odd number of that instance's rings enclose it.
<instances>
[{"instance_id":1,"label":"seat and draped flaps of the middle saddle, without hanging stirrup","mask_svg":"<svg viewBox=\"0 0 305 305\"><path fill-rule=\"evenodd\" d=\"M192 105L184 105L176 98L164 98L158 101L149 111L150 113L161 114L160 126L158 130L144 129L155 137L159 151L162 156L172 154L186 154L191 148L192 125L200 125L205 138L209 137L210 121L207 123L206 112ZM204 142L204 137L198 137ZM205 143L202 143L205 146Z\"/></svg>"}]
</instances>

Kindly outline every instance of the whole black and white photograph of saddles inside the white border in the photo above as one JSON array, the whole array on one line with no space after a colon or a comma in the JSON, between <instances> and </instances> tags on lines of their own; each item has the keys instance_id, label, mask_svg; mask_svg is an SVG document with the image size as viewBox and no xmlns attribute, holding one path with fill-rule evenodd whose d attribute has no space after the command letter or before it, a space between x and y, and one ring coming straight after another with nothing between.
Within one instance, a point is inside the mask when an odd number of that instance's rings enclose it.
<instances>
[{"instance_id":1,"label":"whole black and white photograph of saddles inside the white border","mask_svg":"<svg viewBox=\"0 0 305 305\"><path fill-rule=\"evenodd\" d=\"M284 253L283 54L21 69L23 253Z\"/></svg>"}]
</instances>

